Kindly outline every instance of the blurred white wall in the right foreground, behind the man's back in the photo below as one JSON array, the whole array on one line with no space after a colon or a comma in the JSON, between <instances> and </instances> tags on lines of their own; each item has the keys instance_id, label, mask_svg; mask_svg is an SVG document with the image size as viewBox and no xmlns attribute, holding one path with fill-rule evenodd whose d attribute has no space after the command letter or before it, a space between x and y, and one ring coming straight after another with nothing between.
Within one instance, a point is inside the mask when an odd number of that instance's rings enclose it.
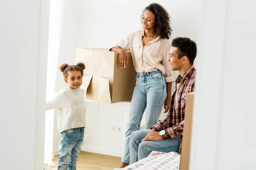
<instances>
[{"instance_id":1,"label":"blurred white wall in the right foreground, behind the man's back","mask_svg":"<svg viewBox=\"0 0 256 170\"><path fill-rule=\"evenodd\" d=\"M191 170L256 169L255 6L203 1Z\"/></svg>"}]
</instances>

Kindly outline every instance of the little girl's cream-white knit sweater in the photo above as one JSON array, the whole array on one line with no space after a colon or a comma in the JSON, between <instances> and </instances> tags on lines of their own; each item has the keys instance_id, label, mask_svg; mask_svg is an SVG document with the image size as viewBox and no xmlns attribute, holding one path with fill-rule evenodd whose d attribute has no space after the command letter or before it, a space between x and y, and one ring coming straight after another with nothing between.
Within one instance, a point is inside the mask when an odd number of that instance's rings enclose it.
<instances>
[{"instance_id":1,"label":"little girl's cream-white knit sweater","mask_svg":"<svg viewBox=\"0 0 256 170\"><path fill-rule=\"evenodd\" d=\"M61 89L46 104L46 110L58 108L58 132L85 127L84 89Z\"/></svg>"}]
</instances>

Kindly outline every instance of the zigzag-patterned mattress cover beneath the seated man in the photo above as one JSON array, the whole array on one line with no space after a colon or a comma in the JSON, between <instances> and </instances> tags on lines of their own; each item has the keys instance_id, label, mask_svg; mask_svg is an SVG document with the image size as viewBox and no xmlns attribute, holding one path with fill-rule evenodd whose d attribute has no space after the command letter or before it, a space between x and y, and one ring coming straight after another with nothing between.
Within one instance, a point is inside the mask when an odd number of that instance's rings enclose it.
<instances>
[{"instance_id":1,"label":"zigzag-patterned mattress cover beneath the seated man","mask_svg":"<svg viewBox=\"0 0 256 170\"><path fill-rule=\"evenodd\" d=\"M150 155L128 165L124 168L115 168L114 170L179 170L180 169L180 154L177 152L157 152L152 151Z\"/></svg>"}]
</instances>

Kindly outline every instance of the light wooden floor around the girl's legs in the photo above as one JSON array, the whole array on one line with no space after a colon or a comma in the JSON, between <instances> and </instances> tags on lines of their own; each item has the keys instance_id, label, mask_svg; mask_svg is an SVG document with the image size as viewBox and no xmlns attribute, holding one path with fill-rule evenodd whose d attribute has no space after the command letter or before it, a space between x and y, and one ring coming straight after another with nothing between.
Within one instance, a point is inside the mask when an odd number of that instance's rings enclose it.
<instances>
[{"instance_id":1,"label":"light wooden floor around the girl's legs","mask_svg":"<svg viewBox=\"0 0 256 170\"><path fill-rule=\"evenodd\" d=\"M45 170L57 170L58 156L51 164L45 164ZM76 164L76 170L113 170L119 167L121 158L81 151Z\"/></svg>"}]
</instances>

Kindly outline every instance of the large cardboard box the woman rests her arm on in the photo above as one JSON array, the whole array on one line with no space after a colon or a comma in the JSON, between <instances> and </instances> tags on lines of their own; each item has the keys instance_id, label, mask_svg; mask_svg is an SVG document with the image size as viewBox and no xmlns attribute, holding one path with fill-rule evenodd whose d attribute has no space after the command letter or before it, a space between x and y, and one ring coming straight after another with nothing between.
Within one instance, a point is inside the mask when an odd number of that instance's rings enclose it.
<instances>
[{"instance_id":1,"label":"large cardboard box the woman rests her arm on","mask_svg":"<svg viewBox=\"0 0 256 170\"><path fill-rule=\"evenodd\" d=\"M126 68L118 65L119 53L106 48L77 48L75 62L85 65L83 84L86 99L103 103L131 101L136 71L130 51L125 52Z\"/></svg>"}]
</instances>

